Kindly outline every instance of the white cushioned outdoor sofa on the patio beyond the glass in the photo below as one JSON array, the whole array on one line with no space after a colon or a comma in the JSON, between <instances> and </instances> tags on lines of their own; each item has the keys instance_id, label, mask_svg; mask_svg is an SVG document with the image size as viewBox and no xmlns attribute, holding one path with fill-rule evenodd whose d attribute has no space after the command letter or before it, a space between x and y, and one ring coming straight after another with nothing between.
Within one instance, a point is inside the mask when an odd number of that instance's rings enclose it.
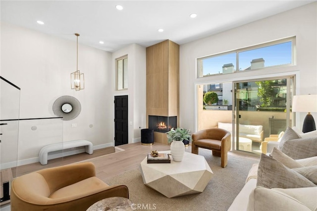
<instances>
[{"instance_id":1,"label":"white cushioned outdoor sofa on the patio beyond the glass","mask_svg":"<svg viewBox=\"0 0 317 211\"><path fill-rule=\"evenodd\" d=\"M232 123L218 123L218 128L228 130L232 134ZM263 141L263 126L239 125L239 137L249 138L252 141Z\"/></svg>"}]
</instances>

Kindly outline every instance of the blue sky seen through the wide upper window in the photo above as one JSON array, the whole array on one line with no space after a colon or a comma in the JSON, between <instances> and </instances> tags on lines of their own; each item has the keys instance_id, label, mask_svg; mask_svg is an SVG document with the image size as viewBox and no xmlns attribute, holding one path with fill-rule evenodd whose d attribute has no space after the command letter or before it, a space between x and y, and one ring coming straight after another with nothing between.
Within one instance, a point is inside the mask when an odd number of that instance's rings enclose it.
<instances>
[{"instance_id":1,"label":"blue sky seen through the wide upper window","mask_svg":"<svg viewBox=\"0 0 317 211\"><path fill-rule=\"evenodd\" d=\"M284 42L239 52L239 70L245 70L251 66L253 59L263 58L264 67L292 63L292 42ZM236 70L236 53L223 54L203 59L204 75L222 73L224 64L232 63Z\"/></svg>"}]
</instances>

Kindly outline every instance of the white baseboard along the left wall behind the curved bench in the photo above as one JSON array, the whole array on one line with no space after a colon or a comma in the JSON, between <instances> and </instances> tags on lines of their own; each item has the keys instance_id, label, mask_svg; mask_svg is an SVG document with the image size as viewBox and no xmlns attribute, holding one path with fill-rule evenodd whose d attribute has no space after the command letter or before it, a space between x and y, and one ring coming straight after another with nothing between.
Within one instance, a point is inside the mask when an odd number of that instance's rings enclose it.
<instances>
[{"instance_id":1,"label":"white baseboard along the left wall behind the curved bench","mask_svg":"<svg viewBox=\"0 0 317 211\"><path fill-rule=\"evenodd\" d=\"M103 149L103 148L111 147L111 146L113 146L113 143L96 145L96 146L94 146L94 150ZM122 149L121 149L121 151L122 151ZM70 156L70 155L75 155L75 154L79 154L79 153L83 153L83 152L85 152L85 147L76 147L74 150L64 150L63 152L56 151L56 152L49 153L48 160L55 159L55 158L61 158L61 157L65 157L65 156ZM14 161L14 162L3 163L0 165L0 169L9 169L9 168L17 167L17 166L19 167L19 166L23 166L23 165L27 165L27 164L37 163L39 161L40 161L39 157L35 157L35 158L18 160L17 162Z\"/></svg>"}]
</instances>

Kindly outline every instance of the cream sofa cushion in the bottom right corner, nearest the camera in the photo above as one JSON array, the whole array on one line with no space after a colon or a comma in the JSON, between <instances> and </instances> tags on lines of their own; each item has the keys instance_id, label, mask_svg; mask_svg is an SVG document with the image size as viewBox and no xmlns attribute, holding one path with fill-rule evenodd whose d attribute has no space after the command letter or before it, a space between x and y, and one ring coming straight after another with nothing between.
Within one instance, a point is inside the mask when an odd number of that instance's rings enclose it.
<instances>
[{"instance_id":1,"label":"cream sofa cushion in the bottom right corner, nearest the camera","mask_svg":"<svg viewBox=\"0 0 317 211\"><path fill-rule=\"evenodd\" d=\"M256 187L249 196L247 211L316 211L317 187Z\"/></svg>"}]
</instances>

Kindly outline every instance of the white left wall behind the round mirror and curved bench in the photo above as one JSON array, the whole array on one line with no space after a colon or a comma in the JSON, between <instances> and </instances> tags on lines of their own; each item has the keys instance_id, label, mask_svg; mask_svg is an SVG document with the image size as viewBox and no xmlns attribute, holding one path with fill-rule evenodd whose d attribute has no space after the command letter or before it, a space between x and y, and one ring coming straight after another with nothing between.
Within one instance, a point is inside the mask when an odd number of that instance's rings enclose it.
<instances>
[{"instance_id":1,"label":"white left wall behind the round mirror and curved bench","mask_svg":"<svg viewBox=\"0 0 317 211\"><path fill-rule=\"evenodd\" d=\"M74 41L1 22L1 76L21 88L20 119L56 117L53 102L62 95L81 103L79 116L57 127L53 121L41 130L50 120L20 121L21 160L38 157L41 147L52 142L87 139L95 148L113 145L112 55L79 44L78 67L85 74L85 89L75 91L70 73L76 71L76 36L69 36ZM73 123L77 127L71 127ZM31 130L32 126L38 129Z\"/></svg>"}]
</instances>

